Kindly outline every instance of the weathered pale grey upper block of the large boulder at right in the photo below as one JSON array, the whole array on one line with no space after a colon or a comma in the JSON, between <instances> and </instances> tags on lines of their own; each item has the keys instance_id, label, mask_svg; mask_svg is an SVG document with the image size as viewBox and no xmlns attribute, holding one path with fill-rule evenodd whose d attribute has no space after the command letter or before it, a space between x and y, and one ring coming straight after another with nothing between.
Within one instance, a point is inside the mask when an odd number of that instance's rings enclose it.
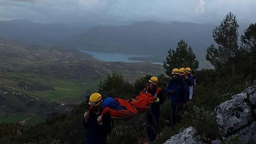
<instances>
[{"instance_id":1,"label":"weathered pale grey upper block of the large boulder at right","mask_svg":"<svg viewBox=\"0 0 256 144\"><path fill-rule=\"evenodd\" d=\"M227 135L253 120L251 107L247 102L247 94L241 93L216 107L216 121L222 135Z\"/></svg>"}]
</instances>

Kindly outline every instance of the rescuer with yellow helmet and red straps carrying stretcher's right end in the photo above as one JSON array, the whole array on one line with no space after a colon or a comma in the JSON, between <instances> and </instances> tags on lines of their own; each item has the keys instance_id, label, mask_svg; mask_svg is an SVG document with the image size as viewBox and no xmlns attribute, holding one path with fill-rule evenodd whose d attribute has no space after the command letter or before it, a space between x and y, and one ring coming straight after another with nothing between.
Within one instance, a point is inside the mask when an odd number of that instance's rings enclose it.
<instances>
[{"instance_id":1,"label":"rescuer with yellow helmet and red straps carrying stretcher's right end","mask_svg":"<svg viewBox=\"0 0 256 144\"><path fill-rule=\"evenodd\" d=\"M154 96L154 103L146 110L147 136L149 142L153 142L158 134L157 125L161 113L160 105L164 103L164 93L157 84L158 79L153 76L149 79L149 85L144 89L144 92Z\"/></svg>"}]
</instances>

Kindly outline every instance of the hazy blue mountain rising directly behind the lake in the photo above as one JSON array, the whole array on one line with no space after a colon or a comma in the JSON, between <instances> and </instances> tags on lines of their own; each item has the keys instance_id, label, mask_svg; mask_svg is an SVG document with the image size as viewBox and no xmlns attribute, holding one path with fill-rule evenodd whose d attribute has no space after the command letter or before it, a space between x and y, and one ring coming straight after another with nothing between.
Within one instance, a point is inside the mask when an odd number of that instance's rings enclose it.
<instances>
[{"instance_id":1,"label":"hazy blue mountain rising directly behind the lake","mask_svg":"<svg viewBox=\"0 0 256 144\"><path fill-rule=\"evenodd\" d=\"M212 24L142 21L128 26L95 26L71 42L81 50L152 54L166 53L183 39L194 52L204 54L213 42L213 28Z\"/></svg>"}]
</instances>

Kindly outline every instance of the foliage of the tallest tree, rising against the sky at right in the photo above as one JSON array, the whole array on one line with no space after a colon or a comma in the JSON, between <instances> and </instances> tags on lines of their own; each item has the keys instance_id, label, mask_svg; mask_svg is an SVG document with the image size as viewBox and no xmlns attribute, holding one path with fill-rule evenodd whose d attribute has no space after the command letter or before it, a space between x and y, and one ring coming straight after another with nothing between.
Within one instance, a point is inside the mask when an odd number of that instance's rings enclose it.
<instances>
[{"instance_id":1,"label":"foliage of the tallest tree, rising against the sky at right","mask_svg":"<svg viewBox=\"0 0 256 144\"><path fill-rule=\"evenodd\" d=\"M229 12L220 25L213 29L213 39L218 44L207 47L206 60L216 69L223 68L233 61L238 50L238 28L236 16Z\"/></svg>"}]
</instances>

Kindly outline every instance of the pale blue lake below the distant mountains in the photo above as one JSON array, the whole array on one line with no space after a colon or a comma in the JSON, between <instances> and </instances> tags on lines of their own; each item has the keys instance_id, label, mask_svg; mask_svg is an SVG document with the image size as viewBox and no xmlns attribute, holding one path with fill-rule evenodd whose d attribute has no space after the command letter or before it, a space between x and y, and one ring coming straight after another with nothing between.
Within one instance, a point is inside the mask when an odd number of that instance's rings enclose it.
<instances>
[{"instance_id":1,"label":"pale blue lake below the distant mountains","mask_svg":"<svg viewBox=\"0 0 256 144\"><path fill-rule=\"evenodd\" d=\"M122 54L122 53L104 53L104 52L92 52L92 51L85 51L81 50L81 52L86 52L88 54L93 55L95 59L99 59L102 61L121 61L121 62L131 62L131 63L136 63L136 62L142 62L142 61L135 61L135 60L130 60L130 57L148 57L151 55L144 55L144 54ZM154 62L152 64L161 64L159 62ZM163 65L163 64L161 64Z\"/></svg>"}]
</instances>

